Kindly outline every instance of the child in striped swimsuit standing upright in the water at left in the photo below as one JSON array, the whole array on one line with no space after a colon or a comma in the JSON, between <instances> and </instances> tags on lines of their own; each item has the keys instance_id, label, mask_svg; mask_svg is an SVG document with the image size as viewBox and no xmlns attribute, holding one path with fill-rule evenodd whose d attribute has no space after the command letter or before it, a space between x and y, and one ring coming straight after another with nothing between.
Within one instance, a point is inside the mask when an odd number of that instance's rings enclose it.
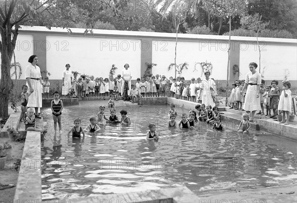
<instances>
[{"instance_id":1,"label":"child in striped swimsuit standing upright in the water at left","mask_svg":"<svg viewBox=\"0 0 297 203\"><path fill-rule=\"evenodd\" d=\"M54 100L52 100L50 102L50 108L52 111L54 131L57 130L57 122L58 122L59 132L61 133L61 131L62 131L61 114L62 114L62 109L63 109L63 101L60 100L59 97L60 97L59 92L55 91L53 93Z\"/></svg>"}]
</instances>

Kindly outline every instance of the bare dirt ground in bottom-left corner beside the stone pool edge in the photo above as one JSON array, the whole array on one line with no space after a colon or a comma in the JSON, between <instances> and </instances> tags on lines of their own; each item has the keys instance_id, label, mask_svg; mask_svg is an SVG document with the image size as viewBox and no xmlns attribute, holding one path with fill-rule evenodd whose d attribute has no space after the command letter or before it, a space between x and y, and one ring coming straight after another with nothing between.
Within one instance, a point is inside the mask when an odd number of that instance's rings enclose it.
<instances>
[{"instance_id":1,"label":"bare dirt ground in bottom-left corner beside the stone pool edge","mask_svg":"<svg viewBox=\"0 0 297 203\"><path fill-rule=\"evenodd\" d=\"M22 158L24 143L10 142L9 138L1 138L0 144L2 145L5 142L12 146L12 160L6 161L4 169L0 170L0 183L3 185L13 184L14 187L0 190L0 202L13 202L18 178L18 171L14 169L14 162L16 159Z\"/></svg>"}]
</instances>

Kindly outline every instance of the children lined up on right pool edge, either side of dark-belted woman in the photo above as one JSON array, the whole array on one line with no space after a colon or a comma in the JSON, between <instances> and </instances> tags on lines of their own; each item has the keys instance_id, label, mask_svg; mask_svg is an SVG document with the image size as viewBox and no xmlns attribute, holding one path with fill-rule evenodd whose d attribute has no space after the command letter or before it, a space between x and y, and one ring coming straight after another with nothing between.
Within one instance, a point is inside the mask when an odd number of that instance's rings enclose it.
<instances>
[{"instance_id":1,"label":"children lined up on right pool edge, either side of dark-belted woman","mask_svg":"<svg viewBox=\"0 0 297 203\"><path fill-rule=\"evenodd\" d=\"M230 108L234 108L236 110L243 110L242 104L245 102L245 95L240 94L245 84L245 80L237 80L232 83L232 91L229 97ZM272 80L271 85L267 85L265 87L265 81L261 80L259 97L260 97L260 106L261 110L259 110L258 115L268 116L272 119L276 119L279 111L283 110L283 108L287 109L284 114L290 114L292 107L292 93L291 93L291 83L288 80L283 81L282 93L278 87L278 80ZM282 96L282 95L284 96ZM289 95L289 96L286 96ZM266 108L266 114L264 113L264 108ZM273 114L271 114L271 109ZM289 116L287 116L289 117ZM285 119L283 119L285 120ZM288 119L287 119L288 120ZM288 125L288 122L281 122Z\"/></svg>"}]
</instances>

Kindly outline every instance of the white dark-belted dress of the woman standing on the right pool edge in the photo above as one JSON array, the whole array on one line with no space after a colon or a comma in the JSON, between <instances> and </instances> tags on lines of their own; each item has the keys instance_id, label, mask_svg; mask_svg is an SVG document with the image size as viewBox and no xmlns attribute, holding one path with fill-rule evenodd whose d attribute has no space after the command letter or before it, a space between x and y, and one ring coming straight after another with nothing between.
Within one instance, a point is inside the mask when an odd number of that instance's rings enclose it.
<instances>
[{"instance_id":1,"label":"white dark-belted dress of the woman standing on the right pool edge","mask_svg":"<svg viewBox=\"0 0 297 203\"><path fill-rule=\"evenodd\" d=\"M251 72L247 73L246 84L261 84L261 75L258 72L252 74ZM260 106L260 97L257 97L257 85L248 85L247 94L243 109L246 111L255 111L261 110Z\"/></svg>"}]
</instances>

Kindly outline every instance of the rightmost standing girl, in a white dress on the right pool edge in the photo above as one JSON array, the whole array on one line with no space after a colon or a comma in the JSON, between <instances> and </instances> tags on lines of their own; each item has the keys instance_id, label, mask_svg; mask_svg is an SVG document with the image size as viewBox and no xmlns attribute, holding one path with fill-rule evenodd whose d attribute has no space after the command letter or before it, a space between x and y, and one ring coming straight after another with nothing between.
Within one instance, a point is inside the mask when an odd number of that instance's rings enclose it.
<instances>
[{"instance_id":1,"label":"rightmost standing girl, in a white dress on the right pool edge","mask_svg":"<svg viewBox=\"0 0 297 203\"><path fill-rule=\"evenodd\" d=\"M280 96L280 101L278 104L278 110L283 111L283 118L282 121L279 123L284 123L285 125L289 125L289 118L290 118L290 112L292 110L292 92L290 90L291 83L289 80L283 81L283 90ZM285 121L287 115L287 121Z\"/></svg>"}]
</instances>

